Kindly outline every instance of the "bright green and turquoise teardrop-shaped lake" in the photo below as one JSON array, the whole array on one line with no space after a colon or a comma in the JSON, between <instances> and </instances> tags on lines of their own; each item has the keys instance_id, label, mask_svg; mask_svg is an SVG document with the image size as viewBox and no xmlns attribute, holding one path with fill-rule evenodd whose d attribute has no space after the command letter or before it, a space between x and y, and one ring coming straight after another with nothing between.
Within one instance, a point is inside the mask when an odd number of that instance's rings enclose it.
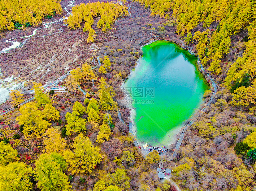
<instances>
[{"instance_id":1,"label":"bright green and turquoise teardrop-shaped lake","mask_svg":"<svg viewBox=\"0 0 256 191\"><path fill-rule=\"evenodd\" d=\"M132 100L133 132L139 144L171 144L185 120L191 118L206 89L197 58L169 41L142 48L143 56L124 84Z\"/></svg>"}]
</instances>

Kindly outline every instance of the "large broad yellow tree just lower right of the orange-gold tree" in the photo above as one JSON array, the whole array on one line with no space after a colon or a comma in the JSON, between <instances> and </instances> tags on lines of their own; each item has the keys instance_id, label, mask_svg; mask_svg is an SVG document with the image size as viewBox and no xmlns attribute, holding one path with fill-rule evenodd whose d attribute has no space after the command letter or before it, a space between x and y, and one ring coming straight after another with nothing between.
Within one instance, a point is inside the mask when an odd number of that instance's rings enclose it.
<instances>
[{"instance_id":1,"label":"large broad yellow tree just lower right of the orange-gold tree","mask_svg":"<svg viewBox=\"0 0 256 191\"><path fill-rule=\"evenodd\" d=\"M80 133L73 143L74 152L66 150L63 156L67 161L68 170L75 173L91 173L102 160L100 148L94 147L88 137Z\"/></svg>"}]
</instances>

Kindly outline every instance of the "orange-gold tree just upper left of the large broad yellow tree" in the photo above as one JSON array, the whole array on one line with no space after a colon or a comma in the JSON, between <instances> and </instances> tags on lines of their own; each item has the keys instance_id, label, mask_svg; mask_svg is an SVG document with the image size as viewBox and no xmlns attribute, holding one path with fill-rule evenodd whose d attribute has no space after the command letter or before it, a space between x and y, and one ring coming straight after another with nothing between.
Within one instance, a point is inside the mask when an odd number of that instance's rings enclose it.
<instances>
[{"instance_id":1,"label":"orange-gold tree just upper left of the large broad yellow tree","mask_svg":"<svg viewBox=\"0 0 256 191\"><path fill-rule=\"evenodd\" d=\"M63 152L67 145L67 141L60 137L61 133L58 129L50 128L46 130L44 137L44 152Z\"/></svg>"}]
</instances>

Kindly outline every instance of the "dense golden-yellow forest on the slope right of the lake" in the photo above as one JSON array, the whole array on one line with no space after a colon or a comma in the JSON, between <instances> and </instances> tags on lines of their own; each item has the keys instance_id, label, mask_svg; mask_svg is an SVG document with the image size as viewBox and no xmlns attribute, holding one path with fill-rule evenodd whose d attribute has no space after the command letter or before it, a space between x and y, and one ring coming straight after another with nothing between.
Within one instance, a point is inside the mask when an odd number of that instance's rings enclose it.
<instances>
[{"instance_id":1,"label":"dense golden-yellow forest on the slope right of the lake","mask_svg":"<svg viewBox=\"0 0 256 191\"><path fill-rule=\"evenodd\" d=\"M177 22L176 33L184 36L188 45L196 44L198 57L203 65L209 64L209 71L221 74L223 62L232 64L225 78L225 86L233 94L234 105L249 106L255 104L255 27L256 12L254 1L150 1L140 0L145 8L150 6L151 15L174 18ZM171 14L167 13L171 11ZM202 31L198 30L202 27ZM209 30L211 26L214 29ZM208 30L207 30L208 29ZM233 55L230 51L231 38L247 34L244 42L243 56ZM233 39L235 40L235 39ZM238 46L241 46L241 43ZM236 62L232 61L236 59ZM222 65L222 67L221 67ZM226 69L226 67L224 67ZM238 88L238 89L237 89ZM242 99L241 99L242 98Z\"/></svg>"}]
</instances>

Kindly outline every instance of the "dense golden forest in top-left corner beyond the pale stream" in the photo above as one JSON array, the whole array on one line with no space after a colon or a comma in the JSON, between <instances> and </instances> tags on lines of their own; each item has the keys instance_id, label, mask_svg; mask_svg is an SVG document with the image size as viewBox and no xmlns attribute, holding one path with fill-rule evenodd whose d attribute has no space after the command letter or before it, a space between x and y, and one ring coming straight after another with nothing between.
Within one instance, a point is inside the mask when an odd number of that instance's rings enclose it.
<instances>
[{"instance_id":1,"label":"dense golden forest in top-left corner beyond the pale stream","mask_svg":"<svg viewBox=\"0 0 256 191\"><path fill-rule=\"evenodd\" d=\"M59 0L1 0L0 31L38 26L42 19L61 12Z\"/></svg>"}]
</instances>

